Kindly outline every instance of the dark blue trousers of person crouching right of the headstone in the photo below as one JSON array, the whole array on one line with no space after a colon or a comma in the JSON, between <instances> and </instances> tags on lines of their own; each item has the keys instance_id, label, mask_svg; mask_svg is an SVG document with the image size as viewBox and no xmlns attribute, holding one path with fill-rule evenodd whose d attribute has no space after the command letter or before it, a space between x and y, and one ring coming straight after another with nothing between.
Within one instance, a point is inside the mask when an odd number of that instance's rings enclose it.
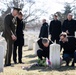
<instances>
[{"instance_id":1,"label":"dark blue trousers of person crouching right of the headstone","mask_svg":"<svg viewBox=\"0 0 76 75\"><path fill-rule=\"evenodd\" d=\"M67 64L71 61L72 58L72 63L76 63L76 52L74 52L73 54L63 54L63 60L65 60Z\"/></svg>"}]
</instances>

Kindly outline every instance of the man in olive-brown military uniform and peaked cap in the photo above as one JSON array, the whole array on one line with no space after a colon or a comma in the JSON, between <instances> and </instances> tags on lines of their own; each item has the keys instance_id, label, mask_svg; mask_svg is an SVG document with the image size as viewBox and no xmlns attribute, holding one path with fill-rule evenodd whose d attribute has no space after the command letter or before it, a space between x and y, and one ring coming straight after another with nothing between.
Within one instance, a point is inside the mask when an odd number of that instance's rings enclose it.
<instances>
[{"instance_id":1,"label":"man in olive-brown military uniform and peaked cap","mask_svg":"<svg viewBox=\"0 0 76 75\"><path fill-rule=\"evenodd\" d=\"M6 15L4 19L4 31L3 37L6 39L7 42L7 52L5 57L5 66L11 65L11 55L13 50L13 42L17 39L15 35L15 24L16 20L15 17L17 16L18 12L21 9L13 8L11 14Z\"/></svg>"}]
</instances>

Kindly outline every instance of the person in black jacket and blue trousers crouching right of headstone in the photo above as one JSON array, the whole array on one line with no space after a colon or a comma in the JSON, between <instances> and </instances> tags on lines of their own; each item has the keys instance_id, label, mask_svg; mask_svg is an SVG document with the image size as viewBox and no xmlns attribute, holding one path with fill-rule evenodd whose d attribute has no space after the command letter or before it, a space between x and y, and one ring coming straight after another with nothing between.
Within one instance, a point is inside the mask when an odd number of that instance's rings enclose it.
<instances>
[{"instance_id":1,"label":"person in black jacket and blue trousers crouching right of headstone","mask_svg":"<svg viewBox=\"0 0 76 75\"><path fill-rule=\"evenodd\" d=\"M66 33L61 33L60 35L60 45L61 49L63 48L63 60L66 61L66 66L69 66L71 59L73 58L73 62L71 66L74 66L76 63L76 38L75 37L67 37Z\"/></svg>"}]
</instances>

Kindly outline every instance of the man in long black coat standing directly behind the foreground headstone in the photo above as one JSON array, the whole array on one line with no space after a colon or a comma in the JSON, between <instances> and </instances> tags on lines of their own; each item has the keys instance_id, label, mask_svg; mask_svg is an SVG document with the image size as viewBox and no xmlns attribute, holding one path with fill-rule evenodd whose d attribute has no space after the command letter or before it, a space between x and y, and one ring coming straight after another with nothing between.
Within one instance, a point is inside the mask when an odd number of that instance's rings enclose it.
<instances>
[{"instance_id":1,"label":"man in long black coat standing directly behind the foreground headstone","mask_svg":"<svg viewBox=\"0 0 76 75\"><path fill-rule=\"evenodd\" d=\"M54 20L50 22L49 28L51 40L54 42L56 40L59 43L59 35L61 33L61 22L58 20L58 15L54 15Z\"/></svg>"}]
</instances>

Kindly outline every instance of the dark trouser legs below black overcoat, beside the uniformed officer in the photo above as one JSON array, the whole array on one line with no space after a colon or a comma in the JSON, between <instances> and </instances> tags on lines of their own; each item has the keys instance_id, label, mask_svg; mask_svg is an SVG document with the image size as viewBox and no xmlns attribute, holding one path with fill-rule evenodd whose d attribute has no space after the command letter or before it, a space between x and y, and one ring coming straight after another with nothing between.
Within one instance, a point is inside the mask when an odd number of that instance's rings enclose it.
<instances>
[{"instance_id":1,"label":"dark trouser legs below black overcoat, beside the uniformed officer","mask_svg":"<svg viewBox=\"0 0 76 75\"><path fill-rule=\"evenodd\" d=\"M17 47L18 47L18 62L22 62L22 46L17 46L14 44L14 49L13 49L13 61L17 62Z\"/></svg>"}]
</instances>

